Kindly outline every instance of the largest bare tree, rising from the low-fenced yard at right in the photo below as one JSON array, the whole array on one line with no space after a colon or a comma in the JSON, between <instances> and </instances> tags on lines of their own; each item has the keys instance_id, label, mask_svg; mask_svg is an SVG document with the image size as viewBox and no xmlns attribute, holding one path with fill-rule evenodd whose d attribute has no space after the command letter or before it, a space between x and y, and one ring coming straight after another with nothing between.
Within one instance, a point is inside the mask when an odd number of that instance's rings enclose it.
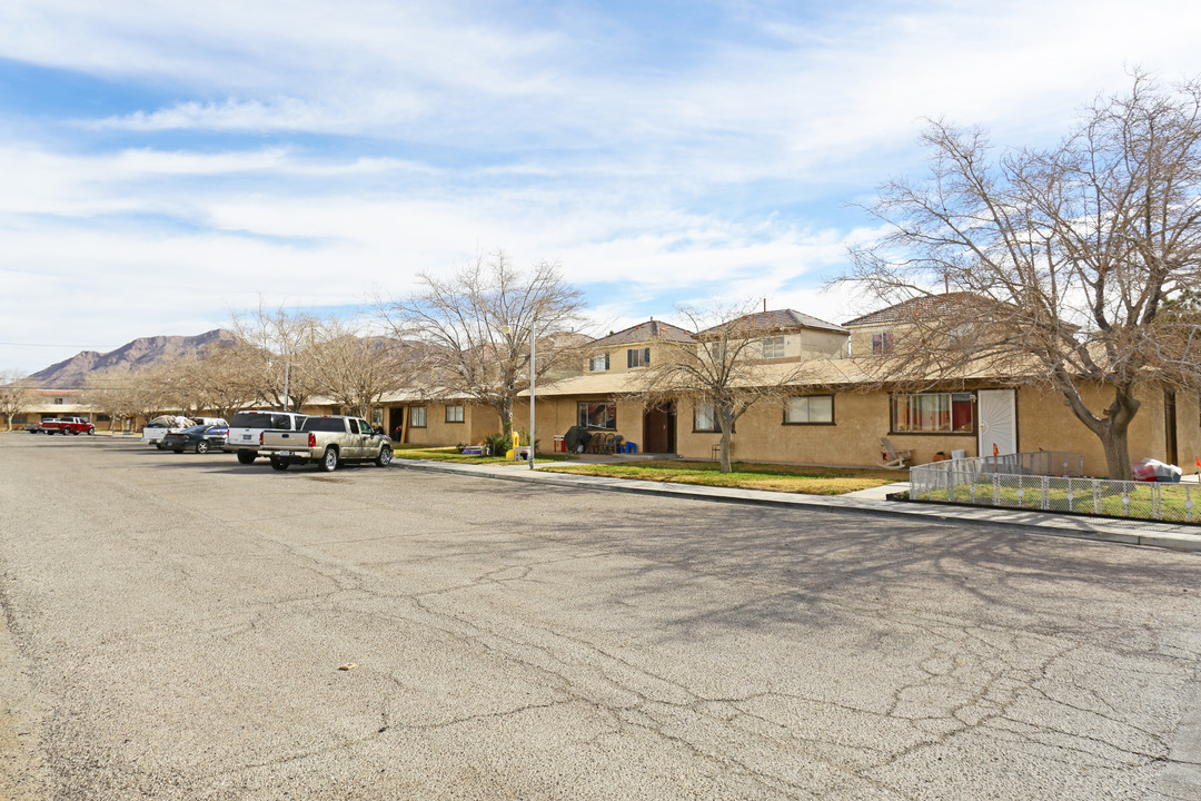
<instances>
[{"instance_id":1,"label":"largest bare tree, rising from the low-fenced yard at right","mask_svg":"<svg viewBox=\"0 0 1201 801\"><path fill-rule=\"evenodd\" d=\"M997 157L982 131L944 122L924 141L930 174L882 187L868 210L891 233L846 276L904 301L879 377L987 369L1050 388L1129 478L1135 387L1201 385L1196 318L1160 313L1201 279L1201 83L1135 73L1047 150ZM1104 407L1085 387L1105 388Z\"/></svg>"}]
</instances>

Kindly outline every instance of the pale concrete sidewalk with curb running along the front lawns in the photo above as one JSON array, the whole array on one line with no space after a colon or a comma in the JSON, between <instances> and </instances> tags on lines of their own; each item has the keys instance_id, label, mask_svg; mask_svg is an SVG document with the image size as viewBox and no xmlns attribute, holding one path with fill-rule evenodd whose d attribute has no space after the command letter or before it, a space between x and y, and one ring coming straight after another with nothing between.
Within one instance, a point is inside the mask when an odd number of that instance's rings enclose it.
<instances>
[{"instance_id":1,"label":"pale concrete sidewalk with curb running along the front lawns","mask_svg":"<svg viewBox=\"0 0 1201 801\"><path fill-rule=\"evenodd\" d=\"M572 476L528 470L506 465L461 465L455 462L398 459L395 467L424 470L460 476L486 476L508 482L527 482L551 486L659 495L669 497L693 497L724 503L748 503L776 508L839 509L867 515L907 515L939 521L976 521L991 525L1015 526L1030 533L1051 537L1072 537L1125 545L1148 545L1172 550L1201 551L1201 526L1182 526L1161 522L1116 520L1110 518L1085 518L1077 515L1030 512L1026 509L992 509L961 507L943 503L913 503L889 501L885 495L904 492L908 482L897 482L871 490L847 495L797 495L697 484L668 484L627 478L603 478L599 476Z\"/></svg>"}]
</instances>

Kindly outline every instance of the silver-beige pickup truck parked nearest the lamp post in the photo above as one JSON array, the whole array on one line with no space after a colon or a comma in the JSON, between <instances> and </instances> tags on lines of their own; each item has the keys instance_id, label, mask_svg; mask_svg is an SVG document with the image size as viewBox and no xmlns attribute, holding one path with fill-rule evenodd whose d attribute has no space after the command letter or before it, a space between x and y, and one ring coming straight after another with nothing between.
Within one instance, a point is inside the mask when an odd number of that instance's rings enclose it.
<instances>
[{"instance_id":1,"label":"silver-beige pickup truck parked nearest the lamp post","mask_svg":"<svg viewBox=\"0 0 1201 801\"><path fill-rule=\"evenodd\" d=\"M376 434L366 420L336 414L310 417L299 431L263 431L257 450L275 470L305 462L316 462L325 472L353 461L392 464L388 437Z\"/></svg>"}]
</instances>

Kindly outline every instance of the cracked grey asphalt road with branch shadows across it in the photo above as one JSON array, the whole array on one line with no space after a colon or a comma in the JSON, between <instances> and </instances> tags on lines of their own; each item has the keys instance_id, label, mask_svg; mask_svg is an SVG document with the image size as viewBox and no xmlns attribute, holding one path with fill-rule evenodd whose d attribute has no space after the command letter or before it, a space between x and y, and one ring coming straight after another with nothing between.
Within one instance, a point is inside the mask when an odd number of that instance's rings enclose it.
<instances>
[{"instance_id":1,"label":"cracked grey asphalt road with branch shadows across it","mask_svg":"<svg viewBox=\"0 0 1201 801\"><path fill-rule=\"evenodd\" d=\"M0 799L1195 800L1199 579L979 525L2 435Z\"/></svg>"}]
</instances>

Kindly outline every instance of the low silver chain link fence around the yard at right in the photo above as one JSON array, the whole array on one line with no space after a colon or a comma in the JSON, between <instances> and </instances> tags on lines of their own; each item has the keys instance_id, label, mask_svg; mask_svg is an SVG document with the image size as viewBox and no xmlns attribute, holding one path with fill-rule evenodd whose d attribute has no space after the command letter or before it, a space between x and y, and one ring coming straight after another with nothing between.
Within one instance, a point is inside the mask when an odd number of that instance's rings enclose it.
<instances>
[{"instance_id":1,"label":"low silver chain link fence around the yard at right","mask_svg":"<svg viewBox=\"0 0 1201 801\"><path fill-rule=\"evenodd\" d=\"M1201 485L1082 478L1081 454L1040 450L909 468L909 497L1002 509L1201 522Z\"/></svg>"}]
</instances>

